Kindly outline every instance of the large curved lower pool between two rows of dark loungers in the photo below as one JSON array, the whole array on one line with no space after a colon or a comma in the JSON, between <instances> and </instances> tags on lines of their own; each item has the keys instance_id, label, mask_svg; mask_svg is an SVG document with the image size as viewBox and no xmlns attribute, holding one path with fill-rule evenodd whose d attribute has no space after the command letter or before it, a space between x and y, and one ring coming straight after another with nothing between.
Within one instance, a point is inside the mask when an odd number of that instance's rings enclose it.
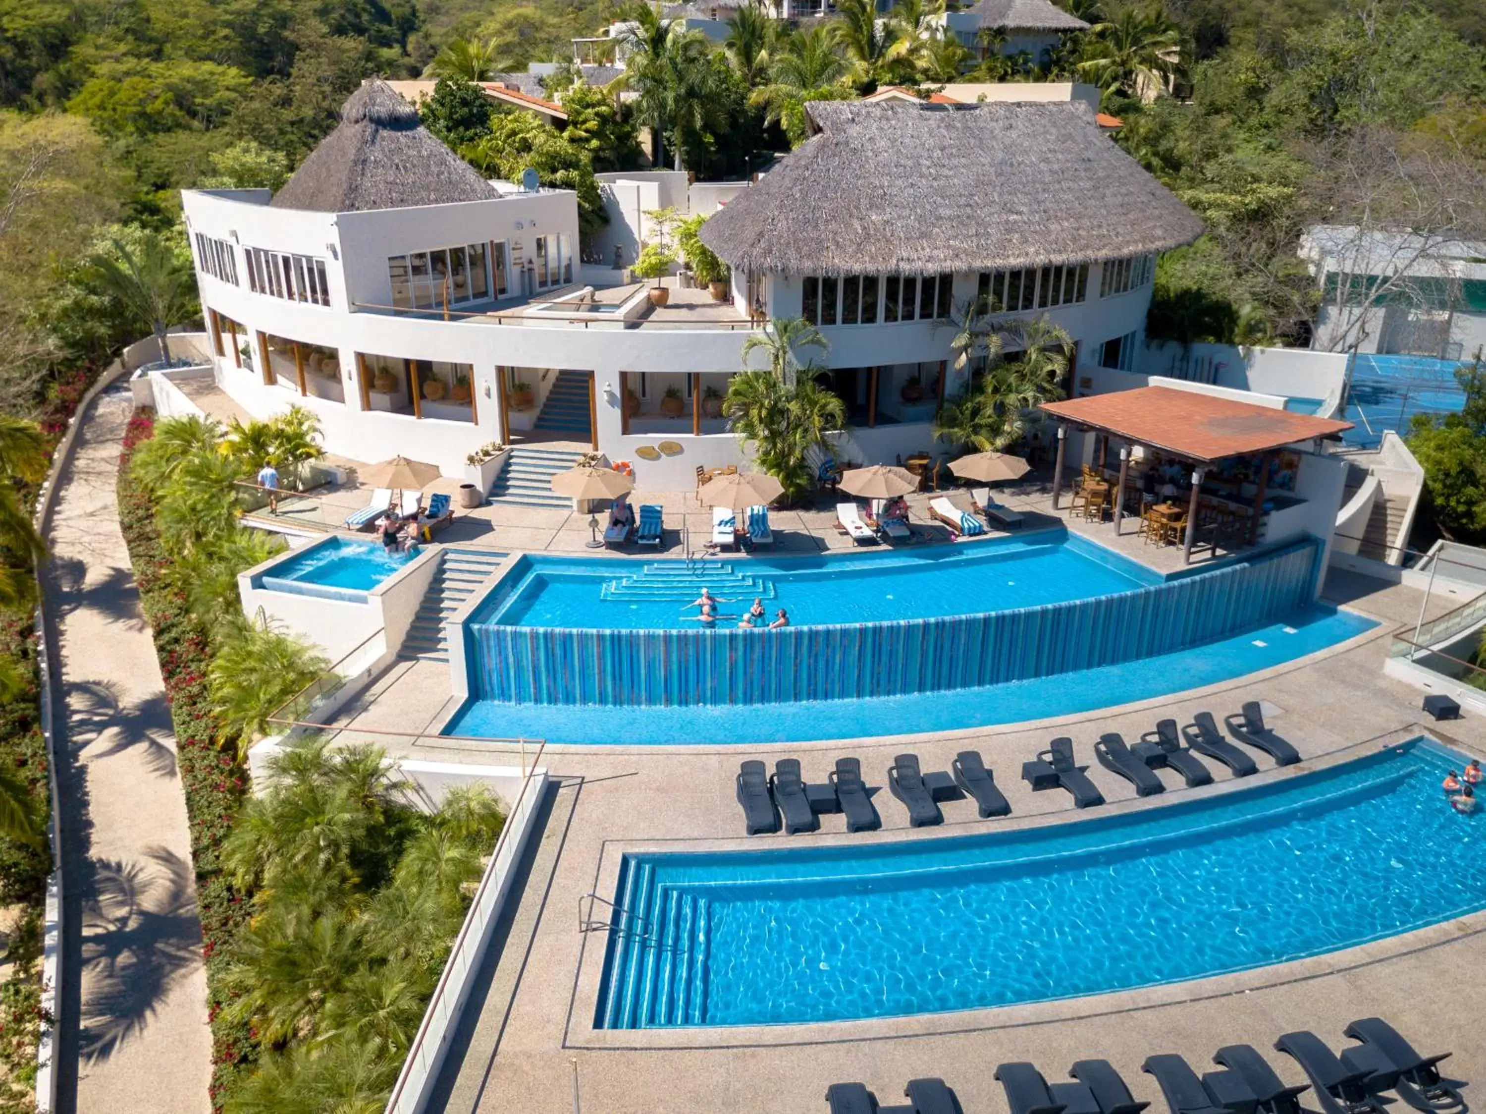
<instances>
[{"instance_id":1,"label":"large curved lower pool between two rows of dark loungers","mask_svg":"<svg viewBox=\"0 0 1486 1114\"><path fill-rule=\"evenodd\" d=\"M1216 799L1022 831L626 855L626 928L609 934L594 1025L1036 1002L1438 924L1486 909L1486 821L1452 812L1438 790L1462 763L1416 739ZM878 808L893 808L884 797Z\"/></svg>"}]
</instances>

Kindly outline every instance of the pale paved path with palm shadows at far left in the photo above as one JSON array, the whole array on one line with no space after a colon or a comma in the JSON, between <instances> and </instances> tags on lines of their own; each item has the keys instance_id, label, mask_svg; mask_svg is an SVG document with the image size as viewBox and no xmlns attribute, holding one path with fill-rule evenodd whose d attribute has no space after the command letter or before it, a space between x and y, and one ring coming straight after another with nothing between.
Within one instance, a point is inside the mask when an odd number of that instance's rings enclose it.
<instances>
[{"instance_id":1,"label":"pale paved path with palm shadows at far left","mask_svg":"<svg viewBox=\"0 0 1486 1114\"><path fill-rule=\"evenodd\" d=\"M114 479L128 388L101 394L58 480L56 660L67 924L61 1111L208 1111L211 1031L186 802Z\"/></svg>"}]
</instances>

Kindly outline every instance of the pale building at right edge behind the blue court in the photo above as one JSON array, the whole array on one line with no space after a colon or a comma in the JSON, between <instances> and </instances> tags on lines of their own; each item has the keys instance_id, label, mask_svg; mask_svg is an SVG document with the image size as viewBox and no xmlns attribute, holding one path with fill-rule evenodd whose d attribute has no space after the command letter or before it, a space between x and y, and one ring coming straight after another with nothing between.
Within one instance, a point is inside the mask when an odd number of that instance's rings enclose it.
<instances>
[{"instance_id":1,"label":"pale building at right edge behind the blue court","mask_svg":"<svg viewBox=\"0 0 1486 1114\"><path fill-rule=\"evenodd\" d=\"M1486 244L1315 225L1300 256L1321 287L1315 348L1461 360L1486 345Z\"/></svg>"}]
</instances>

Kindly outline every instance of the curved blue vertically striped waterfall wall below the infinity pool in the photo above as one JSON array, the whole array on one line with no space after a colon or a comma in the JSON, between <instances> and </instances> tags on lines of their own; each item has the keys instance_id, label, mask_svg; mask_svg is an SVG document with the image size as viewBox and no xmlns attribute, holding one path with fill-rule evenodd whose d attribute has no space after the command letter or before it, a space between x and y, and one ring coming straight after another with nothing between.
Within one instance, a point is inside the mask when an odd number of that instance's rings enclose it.
<instances>
[{"instance_id":1,"label":"curved blue vertically striped waterfall wall below the infinity pool","mask_svg":"<svg viewBox=\"0 0 1486 1114\"><path fill-rule=\"evenodd\" d=\"M1315 538L1117 595L990 614L782 631L465 625L470 695L522 704L840 701L1021 681L1171 653L1311 602Z\"/></svg>"}]
</instances>

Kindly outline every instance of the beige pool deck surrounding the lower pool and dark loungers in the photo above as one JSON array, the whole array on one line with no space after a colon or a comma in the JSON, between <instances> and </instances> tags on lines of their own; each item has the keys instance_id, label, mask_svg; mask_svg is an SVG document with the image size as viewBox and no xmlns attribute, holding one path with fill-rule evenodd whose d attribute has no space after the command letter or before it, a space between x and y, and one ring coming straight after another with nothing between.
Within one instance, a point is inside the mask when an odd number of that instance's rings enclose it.
<instances>
[{"instance_id":1,"label":"beige pool deck surrounding the lower pool and dark loungers","mask_svg":"<svg viewBox=\"0 0 1486 1114\"><path fill-rule=\"evenodd\" d=\"M1051 721L960 732L932 738L887 735L853 742L773 747L548 748L541 763L557 779L545 805L539 840L523 864L522 892L496 928L496 943L467 1005L441 1080L438 1108L504 1111L514 1095L522 1107L574 1110L574 1072L581 1108L624 1114L658 1111L823 1111L825 1087L860 1080L883 1102L902 1093L909 1078L941 1075L966 1110L1005 1111L991 1080L1003 1060L1030 1059L1049 1080L1062 1078L1080 1057L1110 1059L1137 1098L1158 1099L1140 1072L1147 1055L1180 1052L1198 1071L1213 1052L1251 1043L1266 1052L1287 1083L1303 1078L1288 1057L1269 1052L1290 1029L1315 1029L1333 1047L1345 1046L1346 1022L1378 1014L1392 1020L1422 1052L1453 1050L1446 1066L1456 1077L1480 1080L1486 1071L1486 1005L1462 992L1462 973L1486 964L1486 915L1473 915L1403 937L1334 952L1296 964L1109 995L976 1010L771 1029L673 1029L603 1032L591 1026L591 997L606 946L603 931L580 933L583 895L612 895L612 872L626 848L734 846L801 848L863 839L935 839L996 830L970 802L944 805L939 828L906 827L906 815L883 788L875 805L883 834L847 837L840 817L822 818L819 836L744 839L733 778L742 759L771 762L798 756L807 779L820 781L840 754L862 759L871 785L884 787L886 767L899 750L912 750L926 770L945 769L953 756L975 747L997 773L1013 808L1013 821L1074 814L1067 794L1033 796L1019 781L1021 762L1054 733L1071 735L1080 763L1113 806L1161 808L1180 802L1167 793L1134 799L1128 782L1094 762L1091 742L1116 730L1134 742L1155 721L1187 721L1211 709L1220 718L1248 699L1272 706L1271 723L1308 762L1262 778L1288 776L1312 760L1340 754L1364 741L1430 733L1446 745L1486 754L1486 721L1465 718L1421 726L1421 693L1382 675L1392 629L1412 625L1421 593L1331 570L1326 598L1383 620L1355 640L1308 659L1238 681ZM1430 614L1456 605L1435 598ZM367 738L389 750L443 762L513 760L508 744L377 736L382 730L421 732L441 712L432 686L443 666L418 662L383 677L376 699L358 701L342 721L346 739ZM443 689L447 692L447 689ZM410 711L418 709L418 711ZM418 720L422 720L421 723ZM911 730L911 724L893 727ZM531 754L528 754L528 759ZM1210 763L1211 764L1211 763ZM1260 769L1271 763L1260 759ZM1214 770L1226 781L1223 770ZM1088 814L1085 814L1088 815ZM606 888L608 886L608 891ZM1180 947L1180 940L1169 941ZM1159 968L1159 950L1152 962ZM1464 980L1468 986L1471 980Z\"/></svg>"}]
</instances>

